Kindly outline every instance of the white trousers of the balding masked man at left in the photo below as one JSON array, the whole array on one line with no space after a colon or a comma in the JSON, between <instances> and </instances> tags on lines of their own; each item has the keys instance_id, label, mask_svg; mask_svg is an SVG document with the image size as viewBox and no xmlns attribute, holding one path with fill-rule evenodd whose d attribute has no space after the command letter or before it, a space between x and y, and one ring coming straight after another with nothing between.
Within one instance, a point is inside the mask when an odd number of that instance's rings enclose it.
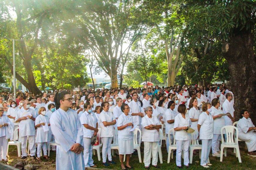
<instances>
[{"instance_id":1,"label":"white trousers of the balding masked man at left","mask_svg":"<svg viewBox=\"0 0 256 170\"><path fill-rule=\"evenodd\" d=\"M30 150L30 156L34 156L36 154L35 136L24 136L24 137L20 137L22 157L28 156L26 152L27 140L28 140L28 145Z\"/></svg>"}]
</instances>

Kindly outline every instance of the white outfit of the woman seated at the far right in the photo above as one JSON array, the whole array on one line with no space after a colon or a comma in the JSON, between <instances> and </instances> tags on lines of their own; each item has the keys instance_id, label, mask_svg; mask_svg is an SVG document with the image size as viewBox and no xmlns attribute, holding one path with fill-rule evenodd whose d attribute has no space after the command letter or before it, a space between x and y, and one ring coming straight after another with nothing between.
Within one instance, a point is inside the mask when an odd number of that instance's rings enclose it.
<instances>
[{"instance_id":1,"label":"white outfit of the woman seated at the far right","mask_svg":"<svg viewBox=\"0 0 256 170\"><path fill-rule=\"evenodd\" d=\"M255 130L247 132L250 127L255 127L250 118L243 117L237 122L238 138L245 141L248 152L256 150L256 132Z\"/></svg>"}]
</instances>

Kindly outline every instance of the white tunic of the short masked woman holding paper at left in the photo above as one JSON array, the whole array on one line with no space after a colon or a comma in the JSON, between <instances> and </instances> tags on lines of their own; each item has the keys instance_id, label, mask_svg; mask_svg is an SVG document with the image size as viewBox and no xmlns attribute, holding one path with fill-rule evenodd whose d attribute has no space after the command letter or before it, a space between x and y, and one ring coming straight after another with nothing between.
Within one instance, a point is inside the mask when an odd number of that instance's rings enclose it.
<instances>
[{"instance_id":1,"label":"white tunic of the short masked woman holding paper at left","mask_svg":"<svg viewBox=\"0 0 256 170\"><path fill-rule=\"evenodd\" d=\"M49 117L48 116L44 116L44 115L38 115L36 117L35 120L35 125L38 125L39 123L45 123L45 126L48 126L49 124ZM49 128L49 126L48 126ZM42 143L42 142L47 142L48 140L48 133L50 133L50 131L44 132L43 126L39 126L37 127L36 130L36 143Z\"/></svg>"}]
</instances>

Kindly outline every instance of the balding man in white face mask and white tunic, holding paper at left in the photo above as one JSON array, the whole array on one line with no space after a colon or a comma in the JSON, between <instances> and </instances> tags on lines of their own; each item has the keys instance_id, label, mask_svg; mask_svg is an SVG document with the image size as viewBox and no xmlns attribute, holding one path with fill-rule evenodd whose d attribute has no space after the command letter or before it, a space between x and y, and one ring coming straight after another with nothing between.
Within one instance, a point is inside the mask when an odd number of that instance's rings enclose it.
<instances>
[{"instance_id":1,"label":"balding man in white face mask and white tunic, holding paper at left","mask_svg":"<svg viewBox=\"0 0 256 170\"><path fill-rule=\"evenodd\" d=\"M30 149L30 156L36 159L36 146L35 146L35 123L36 113L30 109L28 100L23 102L23 107L18 111L15 117L15 122L19 123L19 140L21 140L22 159L27 158L27 140Z\"/></svg>"}]
</instances>

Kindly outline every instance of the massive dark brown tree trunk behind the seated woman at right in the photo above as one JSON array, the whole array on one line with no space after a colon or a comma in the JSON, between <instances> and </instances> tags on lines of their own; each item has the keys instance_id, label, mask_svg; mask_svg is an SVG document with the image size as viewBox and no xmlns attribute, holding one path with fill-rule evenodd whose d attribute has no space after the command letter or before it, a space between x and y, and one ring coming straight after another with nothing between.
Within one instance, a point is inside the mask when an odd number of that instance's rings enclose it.
<instances>
[{"instance_id":1,"label":"massive dark brown tree trunk behind the seated woman at right","mask_svg":"<svg viewBox=\"0 0 256 170\"><path fill-rule=\"evenodd\" d=\"M229 43L223 44L222 51L231 75L236 121L240 118L240 111L248 109L253 124L256 124L256 61L253 43L252 30L237 31L230 37Z\"/></svg>"}]
</instances>

